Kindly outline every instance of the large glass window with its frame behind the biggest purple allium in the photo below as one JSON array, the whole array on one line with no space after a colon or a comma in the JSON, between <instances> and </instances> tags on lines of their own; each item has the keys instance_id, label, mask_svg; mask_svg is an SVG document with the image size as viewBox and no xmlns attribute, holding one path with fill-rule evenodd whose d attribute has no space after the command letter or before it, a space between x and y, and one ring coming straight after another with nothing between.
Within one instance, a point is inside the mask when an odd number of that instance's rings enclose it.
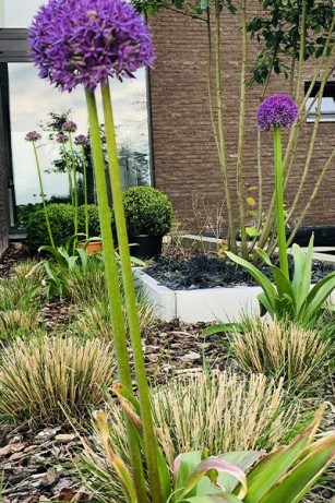
<instances>
[{"instance_id":1,"label":"large glass window with its frame behind the biggest purple allium","mask_svg":"<svg viewBox=\"0 0 335 503\"><path fill-rule=\"evenodd\" d=\"M27 26L38 5L46 1L0 0L0 99L5 110L0 118L0 128L5 136L1 148L8 165L11 226L16 220L17 206L40 202L32 145L24 141L26 132L40 130L40 122L48 120L50 111L62 113L69 109L72 110L71 119L79 124L79 133L87 132L83 88L79 86L71 94L60 93L47 81L38 79L37 69L29 61ZM146 70L140 70L134 80L124 80L122 84L111 80L110 84L122 187L151 184ZM101 115L100 118L103 122ZM43 170L50 170L50 161L58 155L58 148L44 141L39 153ZM65 195L67 177L45 172L44 189L47 199Z\"/></svg>"}]
</instances>

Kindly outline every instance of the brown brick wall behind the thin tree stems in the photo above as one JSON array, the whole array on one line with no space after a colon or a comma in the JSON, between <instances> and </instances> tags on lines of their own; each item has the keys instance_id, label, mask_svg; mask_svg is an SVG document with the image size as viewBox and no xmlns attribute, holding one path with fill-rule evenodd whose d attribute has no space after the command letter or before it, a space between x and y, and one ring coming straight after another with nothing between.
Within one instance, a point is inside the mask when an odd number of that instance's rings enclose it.
<instances>
[{"instance_id":1,"label":"brown brick wall behind the thin tree stems","mask_svg":"<svg viewBox=\"0 0 335 503\"><path fill-rule=\"evenodd\" d=\"M223 75L226 139L230 166L230 187L236 187L239 79L241 44L238 15L225 14L223 24ZM163 13L151 21L156 49L155 68L149 72L154 176L157 188L171 199L177 218L184 228L196 230L198 220L212 215L215 224L224 202L224 191L216 147L213 140L206 91L205 23L175 13ZM304 79L311 79L308 69ZM334 79L335 80L335 75ZM246 193L258 185L255 112L260 88L248 91L243 172ZM267 94L288 92L283 77L276 77ZM312 124L304 127L286 194L289 205L301 178ZM263 168L265 208L273 191L273 139L264 137ZM320 124L312 170L304 188L304 200L313 190L318 172L334 148L335 123ZM284 134L284 143L287 134ZM335 225L335 160L326 175L306 225ZM224 215L225 215L225 208Z\"/></svg>"}]
</instances>

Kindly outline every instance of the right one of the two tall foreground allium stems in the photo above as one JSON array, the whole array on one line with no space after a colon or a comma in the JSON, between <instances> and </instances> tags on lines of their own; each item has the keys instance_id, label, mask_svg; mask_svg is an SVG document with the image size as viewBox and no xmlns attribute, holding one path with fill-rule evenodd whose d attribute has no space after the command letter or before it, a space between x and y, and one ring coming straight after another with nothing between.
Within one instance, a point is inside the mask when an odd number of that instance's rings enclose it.
<instances>
[{"instance_id":1,"label":"right one of the two tall foreground allium stems","mask_svg":"<svg viewBox=\"0 0 335 503\"><path fill-rule=\"evenodd\" d=\"M148 384L145 373L144 357L142 351L141 332L136 308L136 298L131 268L128 233L122 203L122 188L119 170L118 151L116 144L116 132L113 124L112 107L110 99L109 84L101 85L103 109L106 128L106 141L108 152L108 165L111 193L113 200L115 219L118 235L118 243L121 259L121 271L124 287L125 308L128 314L129 333L132 345L132 352L135 367L136 384L139 390L139 402L141 407L141 419L143 422L143 438L145 445L145 458L147 464L151 494L153 503L165 503L161 494L161 487L157 464L157 441L154 432L153 418Z\"/></svg>"}]
</instances>

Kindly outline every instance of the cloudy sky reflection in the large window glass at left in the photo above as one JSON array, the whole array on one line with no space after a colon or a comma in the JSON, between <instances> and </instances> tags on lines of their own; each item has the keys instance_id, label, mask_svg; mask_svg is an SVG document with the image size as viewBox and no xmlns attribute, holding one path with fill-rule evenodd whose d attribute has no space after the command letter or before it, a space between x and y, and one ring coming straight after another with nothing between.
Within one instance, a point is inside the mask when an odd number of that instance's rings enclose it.
<instances>
[{"instance_id":1,"label":"cloudy sky reflection in the large window glass at left","mask_svg":"<svg viewBox=\"0 0 335 503\"><path fill-rule=\"evenodd\" d=\"M47 81L37 76L31 63L9 64L11 137L13 152L14 185L17 205L39 203L40 194L32 145L24 136L40 123L49 120L49 113L63 113L71 109L71 119L79 124L77 134L87 133L87 115L84 91L77 87L71 94L60 93ZM123 188L149 184L148 123L146 106L145 70L136 79L123 83L111 81L117 142L119 148ZM97 93L97 98L99 95ZM99 106L99 101L98 101ZM100 106L99 106L100 109ZM103 115L99 115L103 118ZM50 142L48 133L39 142L38 154L44 170L44 190L48 200L69 193L65 173L53 172L52 161L59 156L59 145ZM48 172L46 172L48 171Z\"/></svg>"}]
</instances>

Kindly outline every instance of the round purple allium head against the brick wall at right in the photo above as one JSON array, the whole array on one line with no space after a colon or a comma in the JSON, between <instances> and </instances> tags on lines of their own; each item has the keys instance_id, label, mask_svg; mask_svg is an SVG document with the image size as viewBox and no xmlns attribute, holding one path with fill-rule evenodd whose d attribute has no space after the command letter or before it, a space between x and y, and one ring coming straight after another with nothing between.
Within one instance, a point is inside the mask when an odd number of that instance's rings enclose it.
<instances>
[{"instance_id":1,"label":"round purple allium head against the brick wall at right","mask_svg":"<svg viewBox=\"0 0 335 503\"><path fill-rule=\"evenodd\" d=\"M272 125L290 128L299 113L298 105L287 94L275 94L266 98L258 111L258 127L268 131Z\"/></svg>"}]
</instances>

